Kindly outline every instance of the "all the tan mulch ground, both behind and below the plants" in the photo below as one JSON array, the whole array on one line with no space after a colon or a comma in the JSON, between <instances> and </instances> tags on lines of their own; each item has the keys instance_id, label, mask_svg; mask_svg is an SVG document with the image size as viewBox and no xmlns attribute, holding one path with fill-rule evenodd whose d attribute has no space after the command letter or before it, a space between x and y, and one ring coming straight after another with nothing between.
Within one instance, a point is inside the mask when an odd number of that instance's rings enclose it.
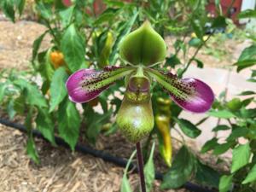
<instances>
[{"instance_id":1,"label":"all the tan mulch ground, both behind and below the plants","mask_svg":"<svg viewBox=\"0 0 256 192\"><path fill-rule=\"evenodd\" d=\"M33 40L44 32L44 26L24 20L13 24L0 17L0 29L0 70L10 67L23 70L30 67ZM245 46L241 43L237 48L235 44L233 42L229 45L234 52L231 55L233 60ZM49 37L45 38L42 45L43 49L47 47ZM230 63L230 55L222 63L209 55L201 54L198 57L212 67L223 67L224 63ZM53 148L41 140L36 140L41 160L37 166L26 155L26 135L0 125L0 138L0 192L112 192L120 189L123 168L90 155L72 153L66 148ZM103 145L104 142L109 143L102 140ZM126 147L125 143L123 145L121 150L126 150L119 151L119 154L129 157L132 148ZM101 144L97 147L101 148ZM110 143L108 148L116 148L116 143ZM137 188L137 175L131 174L129 180L132 187ZM160 191L159 186L160 183L155 181L154 192Z\"/></svg>"}]
</instances>

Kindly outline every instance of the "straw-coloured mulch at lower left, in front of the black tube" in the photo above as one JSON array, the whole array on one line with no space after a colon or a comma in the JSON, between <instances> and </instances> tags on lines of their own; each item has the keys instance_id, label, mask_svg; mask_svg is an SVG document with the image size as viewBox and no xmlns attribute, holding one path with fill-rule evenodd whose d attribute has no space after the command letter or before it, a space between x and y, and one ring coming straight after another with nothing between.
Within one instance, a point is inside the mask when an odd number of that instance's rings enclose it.
<instances>
[{"instance_id":1,"label":"straw-coloured mulch at lower left, in front of the black tube","mask_svg":"<svg viewBox=\"0 0 256 192\"><path fill-rule=\"evenodd\" d=\"M123 168L66 148L54 148L38 139L41 163L35 165L26 155L26 135L0 125L0 137L0 191L117 192L120 189ZM125 151L130 154L130 149ZM137 175L131 174L129 181L137 191ZM159 186L155 181L153 191L160 192Z\"/></svg>"}]
</instances>

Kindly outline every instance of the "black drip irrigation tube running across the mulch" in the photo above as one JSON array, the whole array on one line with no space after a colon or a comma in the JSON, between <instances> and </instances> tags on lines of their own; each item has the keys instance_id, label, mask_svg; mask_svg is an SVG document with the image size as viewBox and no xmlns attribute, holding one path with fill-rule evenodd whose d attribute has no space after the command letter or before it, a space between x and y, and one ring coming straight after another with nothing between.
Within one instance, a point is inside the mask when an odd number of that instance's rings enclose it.
<instances>
[{"instance_id":1,"label":"black drip irrigation tube running across the mulch","mask_svg":"<svg viewBox=\"0 0 256 192\"><path fill-rule=\"evenodd\" d=\"M24 125L20 125L20 124L14 123L12 121L9 121L8 119L1 119L0 118L0 124L7 125L9 127L14 128L15 130L19 130L21 132L26 132L26 127ZM47 141L44 138L44 136L39 131L37 131L37 130L32 130L32 135L34 137L42 138L45 141ZM65 143L65 141L61 137L55 137L55 143L57 145L59 145L59 146L63 146L65 148L69 148L67 143ZM125 168L125 166L127 164L127 161L128 161L128 160L125 160L125 159L123 159L121 157L116 157L116 156L113 156L111 154L108 154L108 153L106 153L106 152L104 152L102 150L97 150L95 148L90 148L89 146L84 146L81 143L78 143L76 145L75 151L80 152L82 154L93 155L93 156L95 156L97 158L101 158L102 160L108 161L110 163L113 163L113 164L115 164L117 166L121 166L121 167L124 167L124 168ZM129 170L134 170L134 172L138 172L138 168L134 164L131 164L131 166L129 167ZM163 174L160 173L160 172L155 172L155 179L163 180ZM216 192L216 191L218 191L218 190L212 189L212 188L211 189L207 189L206 187L202 187L202 186L200 186L198 184L190 183L190 182L185 183L182 188L183 189L188 189L191 192Z\"/></svg>"}]
</instances>

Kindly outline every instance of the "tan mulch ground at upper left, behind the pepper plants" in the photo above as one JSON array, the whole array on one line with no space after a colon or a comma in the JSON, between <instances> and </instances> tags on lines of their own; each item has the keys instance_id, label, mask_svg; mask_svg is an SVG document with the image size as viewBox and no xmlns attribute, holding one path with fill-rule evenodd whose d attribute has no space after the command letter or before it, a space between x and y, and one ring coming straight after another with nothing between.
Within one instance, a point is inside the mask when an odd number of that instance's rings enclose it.
<instances>
[{"instance_id":1,"label":"tan mulch ground at upper left, behind the pepper plants","mask_svg":"<svg viewBox=\"0 0 256 192\"><path fill-rule=\"evenodd\" d=\"M31 67L32 44L45 31L44 26L31 21L12 23L0 21L0 70L14 67L17 70ZM49 47L45 38L42 49Z\"/></svg>"}]
</instances>

